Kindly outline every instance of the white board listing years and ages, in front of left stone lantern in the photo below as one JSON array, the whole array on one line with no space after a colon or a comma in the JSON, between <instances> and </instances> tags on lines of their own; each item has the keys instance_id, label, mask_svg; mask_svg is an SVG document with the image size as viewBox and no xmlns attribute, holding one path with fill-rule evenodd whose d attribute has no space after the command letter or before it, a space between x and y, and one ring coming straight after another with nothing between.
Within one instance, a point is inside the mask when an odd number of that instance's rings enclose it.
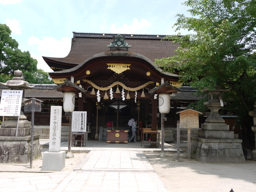
<instances>
[{"instance_id":1,"label":"white board listing years and ages, in front of left stone lantern","mask_svg":"<svg viewBox=\"0 0 256 192\"><path fill-rule=\"evenodd\" d=\"M3 90L0 116L20 116L23 90Z\"/></svg>"}]
</instances>

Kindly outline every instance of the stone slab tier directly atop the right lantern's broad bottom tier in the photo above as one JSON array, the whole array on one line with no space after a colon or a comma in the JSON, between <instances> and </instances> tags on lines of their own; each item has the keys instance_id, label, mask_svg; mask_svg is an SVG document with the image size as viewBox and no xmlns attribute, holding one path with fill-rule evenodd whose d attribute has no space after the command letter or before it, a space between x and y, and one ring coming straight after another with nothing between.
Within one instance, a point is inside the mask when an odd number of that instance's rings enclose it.
<instances>
[{"instance_id":1,"label":"stone slab tier directly atop the right lantern's broad bottom tier","mask_svg":"<svg viewBox=\"0 0 256 192\"><path fill-rule=\"evenodd\" d=\"M206 131L199 129L198 137L205 139L234 139L233 131Z\"/></svg>"}]
</instances>

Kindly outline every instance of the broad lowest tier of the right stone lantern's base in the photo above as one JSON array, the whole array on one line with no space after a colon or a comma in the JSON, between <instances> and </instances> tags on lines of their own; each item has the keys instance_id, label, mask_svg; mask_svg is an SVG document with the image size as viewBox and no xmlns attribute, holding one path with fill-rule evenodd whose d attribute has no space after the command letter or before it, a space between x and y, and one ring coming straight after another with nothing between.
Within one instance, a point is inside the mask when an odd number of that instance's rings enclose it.
<instances>
[{"instance_id":1,"label":"broad lowest tier of the right stone lantern's base","mask_svg":"<svg viewBox=\"0 0 256 192\"><path fill-rule=\"evenodd\" d=\"M191 157L200 162L245 162L240 139L192 137Z\"/></svg>"}]
</instances>

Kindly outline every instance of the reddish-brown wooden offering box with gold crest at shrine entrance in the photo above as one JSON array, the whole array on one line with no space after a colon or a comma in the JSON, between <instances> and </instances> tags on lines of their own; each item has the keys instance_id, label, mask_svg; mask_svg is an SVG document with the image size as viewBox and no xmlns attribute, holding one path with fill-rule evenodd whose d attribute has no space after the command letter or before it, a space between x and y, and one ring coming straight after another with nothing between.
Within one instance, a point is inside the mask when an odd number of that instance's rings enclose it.
<instances>
[{"instance_id":1,"label":"reddish-brown wooden offering box with gold crest at shrine entrance","mask_svg":"<svg viewBox=\"0 0 256 192\"><path fill-rule=\"evenodd\" d=\"M107 143L128 143L128 131L126 130L108 130Z\"/></svg>"}]
</instances>

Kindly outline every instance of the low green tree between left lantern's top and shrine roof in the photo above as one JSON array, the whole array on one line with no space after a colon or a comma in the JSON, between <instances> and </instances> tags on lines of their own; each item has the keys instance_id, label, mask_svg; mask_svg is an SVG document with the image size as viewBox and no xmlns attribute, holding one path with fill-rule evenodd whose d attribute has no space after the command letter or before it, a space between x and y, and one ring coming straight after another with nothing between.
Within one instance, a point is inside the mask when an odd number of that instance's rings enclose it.
<instances>
[{"instance_id":1,"label":"low green tree between left lantern's top and shrine roof","mask_svg":"<svg viewBox=\"0 0 256 192\"><path fill-rule=\"evenodd\" d=\"M36 72L25 72L23 78L30 84L54 84L49 73L42 69L37 69Z\"/></svg>"}]
</instances>

